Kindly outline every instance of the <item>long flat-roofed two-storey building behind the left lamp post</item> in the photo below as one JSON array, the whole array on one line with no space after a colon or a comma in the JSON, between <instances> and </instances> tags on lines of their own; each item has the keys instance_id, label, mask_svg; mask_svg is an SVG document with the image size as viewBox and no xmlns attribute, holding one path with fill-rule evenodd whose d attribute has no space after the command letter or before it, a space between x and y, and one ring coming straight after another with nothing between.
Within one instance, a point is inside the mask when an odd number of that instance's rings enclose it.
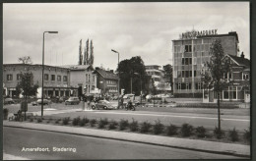
<instances>
[{"instance_id":1,"label":"long flat-roofed two-storey building behind the left lamp post","mask_svg":"<svg viewBox=\"0 0 256 161\"><path fill-rule=\"evenodd\" d=\"M38 95L41 94L42 66L29 64L4 64L3 82L4 94L19 96L16 86L21 73L31 72L33 84L38 84ZM77 88L70 85L70 70L67 68L44 66L44 94L45 96L70 96L76 94Z\"/></svg>"}]
</instances>

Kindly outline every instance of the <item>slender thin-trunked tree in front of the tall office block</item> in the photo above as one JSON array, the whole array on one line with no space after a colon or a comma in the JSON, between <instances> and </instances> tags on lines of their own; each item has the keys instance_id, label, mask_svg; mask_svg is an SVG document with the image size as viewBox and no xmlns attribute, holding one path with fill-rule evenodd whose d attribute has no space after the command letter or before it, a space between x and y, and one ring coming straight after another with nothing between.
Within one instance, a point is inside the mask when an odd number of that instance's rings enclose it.
<instances>
[{"instance_id":1,"label":"slender thin-trunked tree in front of the tall office block","mask_svg":"<svg viewBox=\"0 0 256 161\"><path fill-rule=\"evenodd\" d=\"M221 132L221 104L220 94L221 92L231 84L230 80L227 80L226 75L231 72L231 64L229 59L224 58L224 49L221 44L221 40L214 40L210 49L211 59L207 62L202 76L204 82L204 88L213 89L217 93L218 97L218 129Z\"/></svg>"}]
</instances>

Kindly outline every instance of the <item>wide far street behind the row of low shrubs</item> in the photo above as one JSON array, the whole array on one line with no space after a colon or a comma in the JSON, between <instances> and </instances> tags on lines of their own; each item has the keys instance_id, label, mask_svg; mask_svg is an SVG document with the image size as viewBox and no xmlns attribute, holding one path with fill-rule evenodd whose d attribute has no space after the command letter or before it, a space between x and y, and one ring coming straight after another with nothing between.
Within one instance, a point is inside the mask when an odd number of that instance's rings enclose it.
<instances>
[{"instance_id":1,"label":"wide far street behind the row of low shrubs","mask_svg":"<svg viewBox=\"0 0 256 161\"><path fill-rule=\"evenodd\" d=\"M6 106L10 112L15 113L20 106L9 105ZM160 108L154 108L154 111L148 111L149 108L137 108L136 111L120 110L89 110L81 111L82 105L69 105L53 104L51 107L44 106L44 108L56 109L52 112L48 111L52 117L70 117L76 118L88 117L89 119L103 119L120 121L121 119L127 119L132 121L135 119L138 122L150 122L152 124L155 121L160 120L164 125L173 124L181 126L184 123L191 124L194 127L204 126L208 129L214 129L218 126L218 115L216 109L193 109L193 108L165 108L165 112L161 112ZM153 109L153 108L151 108ZM65 113L65 110L73 110L72 112ZM29 111L37 112L40 116L40 107L29 106ZM58 112L60 111L60 112ZM76 112L77 111L77 112ZM160 111L160 112L159 112ZM222 129L225 131L235 128L240 132L244 132L250 127L250 115L249 109L222 109L221 110Z\"/></svg>"}]
</instances>

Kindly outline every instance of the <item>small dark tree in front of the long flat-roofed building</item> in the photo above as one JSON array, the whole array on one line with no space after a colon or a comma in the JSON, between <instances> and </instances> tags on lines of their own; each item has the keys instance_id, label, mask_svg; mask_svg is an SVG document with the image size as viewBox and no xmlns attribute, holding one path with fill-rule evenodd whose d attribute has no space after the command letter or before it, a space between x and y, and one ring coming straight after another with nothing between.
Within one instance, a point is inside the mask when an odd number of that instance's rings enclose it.
<instances>
[{"instance_id":1,"label":"small dark tree in front of the long flat-roofed building","mask_svg":"<svg viewBox=\"0 0 256 161\"><path fill-rule=\"evenodd\" d=\"M38 84L33 84L33 76L31 72L21 73L19 75L20 81L16 86L17 94L22 93L25 98L25 102L28 102L28 96L35 95L37 93ZM25 110L25 120L26 120L26 110Z\"/></svg>"}]
</instances>

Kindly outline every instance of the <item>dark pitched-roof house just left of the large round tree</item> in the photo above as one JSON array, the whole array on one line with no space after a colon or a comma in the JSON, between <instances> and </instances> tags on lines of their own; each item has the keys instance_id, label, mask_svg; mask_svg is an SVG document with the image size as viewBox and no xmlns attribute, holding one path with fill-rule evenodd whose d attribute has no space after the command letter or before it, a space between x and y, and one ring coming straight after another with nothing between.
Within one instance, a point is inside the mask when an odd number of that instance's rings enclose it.
<instances>
[{"instance_id":1,"label":"dark pitched-roof house just left of the large round tree","mask_svg":"<svg viewBox=\"0 0 256 161\"><path fill-rule=\"evenodd\" d=\"M105 71L97 68L94 72L96 74L96 86L101 93L115 95L118 94L118 77L113 71Z\"/></svg>"}]
</instances>

